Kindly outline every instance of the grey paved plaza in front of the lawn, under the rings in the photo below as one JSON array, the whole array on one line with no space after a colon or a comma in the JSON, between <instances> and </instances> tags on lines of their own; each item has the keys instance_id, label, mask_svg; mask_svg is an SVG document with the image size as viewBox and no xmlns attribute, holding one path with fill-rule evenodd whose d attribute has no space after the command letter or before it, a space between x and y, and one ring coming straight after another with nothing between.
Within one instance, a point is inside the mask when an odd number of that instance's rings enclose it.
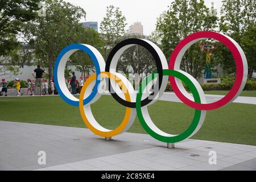
<instances>
[{"instance_id":1,"label":"grey paved plaza in front of the lawn, under the rings","mask_svg":"<svg viewBox=\"0 0 256 182\"><path fill-rule=\"evenodd\" d=\"M38 152L46 164L38 164ZM217 164L209 164L216 151ZM256 170L256 146L187 139L167 148L147 134L106 141L88 129L0 121L0 170Z\"/></svg>"}]
</instances>

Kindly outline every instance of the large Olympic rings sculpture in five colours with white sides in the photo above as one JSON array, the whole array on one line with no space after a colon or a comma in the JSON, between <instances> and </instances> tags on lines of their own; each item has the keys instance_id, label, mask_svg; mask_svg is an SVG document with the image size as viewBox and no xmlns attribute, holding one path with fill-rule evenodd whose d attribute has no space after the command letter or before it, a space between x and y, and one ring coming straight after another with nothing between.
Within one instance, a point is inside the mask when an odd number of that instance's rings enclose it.
<instances>
[{"instance_id":1,"label":"large Olympic rings sculpture in five colours with white sides","mask_svg":"<svg viewBox=\"0 0 256 182\"><path fill-rule=\"evenodd\" d=\"M212 38L224 44L230 50L236 61L236 80L234 81L232 89L225 97L212 103L207 103L199 82L188 73L180 70L181 59L185 51L187 51L192 44L205 38ZM125 76L116 72L117 63L122 53L127 48L134 45L146 48L154 57L157 68L154 73L144 78L142 84L139 86L138 93L135 93L133 85L131 85ZM82 86L79 99L69 92L64 78L65 64L72 53L77 50L88 53L96 68L96 73L90 76L85 81L84 86ZM94 134L100 137L113 137L121 134L130 128L137 115L144 130L146 130L151 137L166 143L176 143L192 137L199 131L204 123L207 110L220 108L235 100L245 86L247 72L248 68L245 53L243 53L242 48L237 42L229 36L218 32L201 31L188 35L177 44L172 52L169 64L160 48L156 46L156 44L144 39L126 39L118 43L109 53L106 63L96 48L87 44L71 44L65 47L57 57L53 75L55 77L56 89L61 98L72 106L79 106L81 117L85 125ZM109 82L105 81L106 78L109 78ZM184 104L195 109L195 115L191 125L189 125L183 133L178 135L168 134L160 130L151 120L147 110L147 106L157 100L156 97L159 98L162 96L168 80L170 80L170 84L176 96L183 101ZM191 90L192 96L185 90L182 82ZM152 85L155 83L158 86L154 86L149 96L143 92L148 88L152 88ZM123 121L114 130L108 130L102 127L93 117L92 110L90 109L90 105L96 102L102 95L101 88L104 84L109 84L108 89L114 99L119 102L119 104L126 106ZM113 90L114 92L111 92ZM123 92L122 96L118 94L118 91Z\"/></svg>"}]
</instances>

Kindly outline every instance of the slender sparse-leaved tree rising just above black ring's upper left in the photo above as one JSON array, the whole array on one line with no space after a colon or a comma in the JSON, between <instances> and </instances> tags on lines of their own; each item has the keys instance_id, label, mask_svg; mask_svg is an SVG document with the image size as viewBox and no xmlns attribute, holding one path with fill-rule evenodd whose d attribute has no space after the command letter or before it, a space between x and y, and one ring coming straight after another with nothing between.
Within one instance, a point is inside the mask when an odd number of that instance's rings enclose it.
<instances>
[{"instance_id":1,"label":"slender sparse-leaved tree rising just above black ring's upper left","mask_svg":"<svg viewBox=\"0 0 256 182\"><path fill-rule=\"evenodd\" d=\"M119 7L110 5L107 7L106 16L103 18L100 30L108 45L115 44L118 39L125 35L126 18L122 15Z\"/></svg>"}]
</instances>

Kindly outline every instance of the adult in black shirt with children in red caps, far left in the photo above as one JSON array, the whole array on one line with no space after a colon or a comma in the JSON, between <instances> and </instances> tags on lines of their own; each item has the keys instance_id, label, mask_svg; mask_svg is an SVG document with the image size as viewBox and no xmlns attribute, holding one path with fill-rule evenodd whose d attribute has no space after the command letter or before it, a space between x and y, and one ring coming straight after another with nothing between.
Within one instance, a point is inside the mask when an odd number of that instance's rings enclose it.
<instances>
[{"instance_id":1,"label":"adult in black shirt with children in red caps, far left","mask_svg":"<svg viewBox=\"0 0 256 182\"><path fill-rule=\"evenodd\" d=\"M32 72L32 76L35 78L35 80L31 80L30 78L27 78L27 95L30 92L30 96L37 95L38 92L36 88L39 88L39 95L42 96L44 94L49 94L48 90L49 87L51 89L51 94L54 94L55 86L54 86L54 81L53 78L50 80L50 84L48 84L47 79L43 78L43 75L47 74L46 71L40 68L40 65L38 65L38 68L36 68ZM15 84L13 87L15 87L17 96L22 96L23 93L20 92L20 79L15 78ZM0 85L2 85L2 90L0 92L0 96L3 96L3 93L5 93L5 96L7 96L7 86L9 85L9 82L6 82L5 78L2 78L2 82L0 82ZM34 93L33 93L34 92Z\"/></svg>"}]
</instances>

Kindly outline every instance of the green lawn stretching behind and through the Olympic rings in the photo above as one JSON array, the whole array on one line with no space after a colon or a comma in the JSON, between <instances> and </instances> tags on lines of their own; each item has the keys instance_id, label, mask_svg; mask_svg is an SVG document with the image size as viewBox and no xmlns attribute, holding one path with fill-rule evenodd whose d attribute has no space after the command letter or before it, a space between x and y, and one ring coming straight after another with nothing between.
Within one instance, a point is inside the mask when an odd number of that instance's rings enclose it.
<instances>
[{"instance_id":1,"label":"green lawn stretching behind and through the Olympic rings","mask_svg":"<svg viewBox=\"0 0 256 182\"><path fill-rule=\"evenodd\" d=\"M79 108L54 97L1 97L0 120L85 127ZM95 118L102 126L114 129L122 121L125 107L111 96L102 96L92 105ZM148 107L152 120L167 133L177 134L192 121L194 110L182 103L157 101ZM129 129L145 133L138 119ZM208 111L204 125L194 139L251 144L256 146L256 105L230 104Z\"/></svg>"}]
</instances>

